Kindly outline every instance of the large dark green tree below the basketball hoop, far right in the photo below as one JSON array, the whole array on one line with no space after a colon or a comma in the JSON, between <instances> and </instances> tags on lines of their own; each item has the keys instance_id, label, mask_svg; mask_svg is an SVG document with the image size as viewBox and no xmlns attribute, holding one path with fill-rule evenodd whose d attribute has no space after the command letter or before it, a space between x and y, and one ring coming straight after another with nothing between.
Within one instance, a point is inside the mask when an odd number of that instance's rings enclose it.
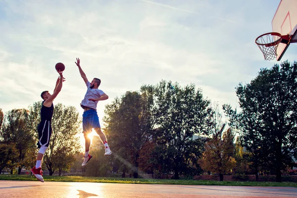
<instances>
[{"instance_id":1,"label":"large dark green tree below the basketball hoop, far right","mask_svg":"<svg viewBox=\"0 0 297 198\"><path fill-rule=\"evenodd\" d=\"M297 62L262 68L249 84L239 84L236 94L243 146L255 163L268 163L281 182L281 171L297 157Z\"/></svg>"}]
</instances>

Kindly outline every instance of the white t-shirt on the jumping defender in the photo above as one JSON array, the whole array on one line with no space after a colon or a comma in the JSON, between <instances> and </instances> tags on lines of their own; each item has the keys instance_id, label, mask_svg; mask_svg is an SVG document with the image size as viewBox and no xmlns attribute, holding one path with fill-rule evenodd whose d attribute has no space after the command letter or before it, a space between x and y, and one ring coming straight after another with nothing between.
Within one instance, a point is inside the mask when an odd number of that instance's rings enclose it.
<instances>
[{"instance_id":1,"label":"white t-shirt on the jumping defender","mask_svg":"<svg viewBox=\"0 0 297 198\"><path fill-rule=\"evenodd\" d=\"M94 101L89 100L89 99L99 99L104 94L104 92L102 90L99 90L99 89L91 89L90 86L91 86L91 83L87 82L88 90L87 90L87 93L85 95L85 98L82 100L82 105L90 107L90 108L94 108L94 109L97 110L98 101L94 102Z\"/></svg>"}]
</instances>

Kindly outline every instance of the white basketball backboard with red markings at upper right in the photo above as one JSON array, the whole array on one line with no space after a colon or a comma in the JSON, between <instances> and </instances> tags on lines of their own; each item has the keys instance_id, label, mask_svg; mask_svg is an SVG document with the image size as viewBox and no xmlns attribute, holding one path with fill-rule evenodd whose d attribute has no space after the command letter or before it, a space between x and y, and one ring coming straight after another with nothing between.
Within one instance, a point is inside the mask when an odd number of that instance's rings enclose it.
<instances>
[{"instance_id":1,"label":"white basketball backboard with red markings at upper right","mask_svg":"<svg viewBox=\"0 0 297 198\"><path fill-rule=\"evenodd\" d=\"M290 43L297 42L297 0L281 0L272 19L272 31L289 35L289 43L280 43L277 47L276 59L279 61Z\"/></svg>"}]
</instances>

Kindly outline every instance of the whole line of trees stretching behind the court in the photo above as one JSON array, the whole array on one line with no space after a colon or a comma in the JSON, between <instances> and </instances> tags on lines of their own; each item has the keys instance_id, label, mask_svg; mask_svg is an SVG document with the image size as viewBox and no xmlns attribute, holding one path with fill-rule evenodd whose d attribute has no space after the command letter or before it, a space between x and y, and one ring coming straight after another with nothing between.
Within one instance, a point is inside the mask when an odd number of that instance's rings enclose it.
<instances>
[{"instance_id":1,"label":"whole line of trees stretching behind the court","mask_svg":"<svg viewBox=\"0 0 297 198\"><path fill-rule=\"evenodd\" d=\"M102 129L113 155L101 156L100 145L84 174L161 178L172 173L179 179L211 172L222 181L224 174L238 173L255 174L258 181L259 172L270 172L281 182L282 172L297 158L297 62L260 69L250 83L239 83L236 95L239 109L219 107L194 84L162 80L126 92L104 109ZM0 110L0 170L17 167L20 174L22 167L34 166L41 105ZM50 175L82 169L80 125L75 107L55 105L44 158Z\"/></svg>"}]
</instances>

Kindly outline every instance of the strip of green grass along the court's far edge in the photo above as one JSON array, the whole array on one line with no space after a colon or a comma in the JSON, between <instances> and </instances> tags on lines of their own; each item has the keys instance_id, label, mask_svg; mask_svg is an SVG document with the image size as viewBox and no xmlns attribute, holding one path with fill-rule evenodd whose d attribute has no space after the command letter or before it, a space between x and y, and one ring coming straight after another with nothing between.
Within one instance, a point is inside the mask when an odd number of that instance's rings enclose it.
<instances>
[{"instance_id":1,"label":"strip of green grass along the court's far edge","mask_svg":"<svg viewBox=\"0 0 297 198\"><path fill-rule=\"evenodd\" d=\"M4 175L0 180L37 181L33 175ZM81 176L44 176L45 181L51 182L97 182L121 184L170 184L170 185L207 185L207 186L273 186L297 187L294 182L236 182L236 181L208 181L208 180L170 180L170 179L134 179L134 178L104 178Z\"/></svg>"}]
</instances>

